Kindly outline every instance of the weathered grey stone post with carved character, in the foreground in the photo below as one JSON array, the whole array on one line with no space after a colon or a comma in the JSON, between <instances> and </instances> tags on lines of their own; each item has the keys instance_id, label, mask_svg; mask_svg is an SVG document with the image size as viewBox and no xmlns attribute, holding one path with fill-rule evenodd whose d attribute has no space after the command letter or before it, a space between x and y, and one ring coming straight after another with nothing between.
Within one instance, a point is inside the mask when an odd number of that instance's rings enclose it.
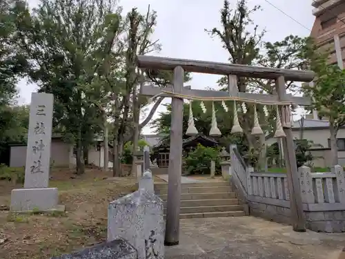
<instances>
[{"instance_id":1,"label":"weathered grey stone post with carved character, in the foreground","mask_svg":"<svg viewBox=\"0 0 345 259\"><path fill-rule=\"evenodd\" d=\"M164 202L153 193L139 189L108 206L108 241L128 240L138 259L164 258L164 231Z\"/></svg>"}]
</instances>

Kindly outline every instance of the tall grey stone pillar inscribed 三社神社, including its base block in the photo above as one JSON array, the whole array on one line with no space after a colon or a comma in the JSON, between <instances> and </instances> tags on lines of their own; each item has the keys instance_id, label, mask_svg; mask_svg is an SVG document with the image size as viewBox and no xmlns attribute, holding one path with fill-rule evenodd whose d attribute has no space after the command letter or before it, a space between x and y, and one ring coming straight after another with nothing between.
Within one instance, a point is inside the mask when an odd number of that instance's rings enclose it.
<instances>
[{"instance_id":1,"label":"tall grey stone pillar inscribed \u4e09\u793e\u795e\u793e, including its base block","mask_svg":"<svg viewBox=\"0 0 345 259\"><path fill-rule=\"evenodd\" d=\"M57 206L57 188L48 188L53 98L49 93L31 95L24 188L12 190L11 211L64 210Z\"/></svg>"}]
</instances>

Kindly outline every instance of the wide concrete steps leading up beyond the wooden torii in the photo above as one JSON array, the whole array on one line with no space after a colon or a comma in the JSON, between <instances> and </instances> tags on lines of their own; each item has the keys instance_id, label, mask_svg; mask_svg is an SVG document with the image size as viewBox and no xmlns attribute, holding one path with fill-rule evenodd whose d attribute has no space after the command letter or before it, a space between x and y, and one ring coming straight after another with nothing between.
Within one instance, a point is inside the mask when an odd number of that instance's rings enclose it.
<instances>
[{"instance_id":1,"label":"wide concrete steps leading up beyond the wooden torii","mask_svg":"<svg viewBox=\"0 0 345 259\"><path fill-rule=\"evenodd\" d=\"M155 193L166 201L168 184L155 184ZM166 205L165 205L166 206ZM166 213L166 212L164 212ZM215 218L244 215L228 182L195 182L181 184L179 218Z\"/></svg>"}]
</instances>

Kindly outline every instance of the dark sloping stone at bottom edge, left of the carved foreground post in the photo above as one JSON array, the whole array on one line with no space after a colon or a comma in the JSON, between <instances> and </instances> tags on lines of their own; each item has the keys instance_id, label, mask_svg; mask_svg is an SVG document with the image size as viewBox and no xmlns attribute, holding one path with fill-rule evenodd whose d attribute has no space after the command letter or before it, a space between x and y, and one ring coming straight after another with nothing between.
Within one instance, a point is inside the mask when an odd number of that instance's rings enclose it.
<instances>
[{"instance_id":1,"label":"dark sloping stone at bottom edge, left of the carved foreground post","mask_svg":"<svg viewBox=\"0 0 345 259\"><path fill-rule=\"evenodd\" d=\"M117 239L51 259L137 259L137 251L126 240Z\"/></svg>"}]
</instances>

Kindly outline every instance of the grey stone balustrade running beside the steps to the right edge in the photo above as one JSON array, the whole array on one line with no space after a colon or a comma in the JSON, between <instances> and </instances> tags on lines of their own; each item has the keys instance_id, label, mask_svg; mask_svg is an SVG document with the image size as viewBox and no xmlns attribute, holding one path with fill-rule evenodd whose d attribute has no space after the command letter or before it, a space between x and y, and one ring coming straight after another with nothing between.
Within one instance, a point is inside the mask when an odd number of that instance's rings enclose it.
<instances>
[{"instance_id":1,"label":"grey stone balustrade running beside the steps to the right edge","mask_svg":"<svg viewBox=\"0 0 345 259\"><path fill-rule=\"evenodd\" d=\"M231 182L251 215L290 223L290 195L286 173L256 173L230 148ZM323 232L345 232L345 178L342 166L331 172L312 173L298 169L306 226Z\"/></svg>"}]
</instances>

